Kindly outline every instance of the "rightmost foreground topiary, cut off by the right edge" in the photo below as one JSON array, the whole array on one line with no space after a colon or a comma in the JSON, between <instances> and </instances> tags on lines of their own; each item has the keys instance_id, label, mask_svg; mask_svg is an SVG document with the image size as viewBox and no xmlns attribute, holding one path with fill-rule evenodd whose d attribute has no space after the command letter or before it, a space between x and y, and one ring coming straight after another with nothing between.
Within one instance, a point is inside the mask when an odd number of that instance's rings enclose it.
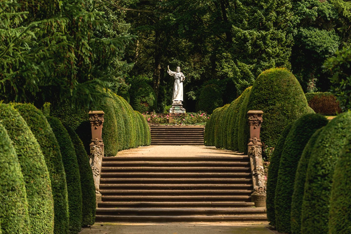
<instances>
[{"instance_id":1,"label":"rightmost foreground topiary, cut off by the right edge","mask_svg":"<svg viewBox=\"0 0 351 234\"><path fill-rule=\"evenodd\" d=\"M329 208L329 234L349 234L351 230L351 139L336 162Z\"/></svg>"}]
</instances>

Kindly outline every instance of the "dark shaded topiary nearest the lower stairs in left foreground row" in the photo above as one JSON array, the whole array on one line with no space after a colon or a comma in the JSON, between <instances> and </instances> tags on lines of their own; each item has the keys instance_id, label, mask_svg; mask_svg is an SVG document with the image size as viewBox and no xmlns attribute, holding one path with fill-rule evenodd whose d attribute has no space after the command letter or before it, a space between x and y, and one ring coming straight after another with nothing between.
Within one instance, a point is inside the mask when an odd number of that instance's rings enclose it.
<instances>
[{"instance_id":1,"label":"dark shaded topiary nearest the lower stairs in left foreground row","mask_svg":"<svg viewBox=\"0 0 351 234\"><path fill-rule=\"evenodd\" d=\"M64 125L71 137L80 174L80 185L82 190L82 226L93 225L95 222L96 198L93 172L90 167L89 157L84 149L82 141L74 130Z\"/></svg>"}]
</instances>

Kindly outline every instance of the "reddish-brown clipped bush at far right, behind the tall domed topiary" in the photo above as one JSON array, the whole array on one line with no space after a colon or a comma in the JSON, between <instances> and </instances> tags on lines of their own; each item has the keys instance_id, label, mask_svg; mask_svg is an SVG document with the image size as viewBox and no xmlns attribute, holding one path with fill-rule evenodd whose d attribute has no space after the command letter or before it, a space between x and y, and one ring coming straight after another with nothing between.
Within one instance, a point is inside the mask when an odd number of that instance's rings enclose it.
<instances>
[{"instance_id":1,"label":"reddish-brown clipped bush at far right, behind the tall domed topiary","mask_svg":"<svg viewBox=\"0 0 351 234\"><path fill-rule=\"evenodd\" d=\"M339 102L330 92L306 93L308 105L314 112L323 115L335 115L341 113Z\"/></svg>"}]
</instances>

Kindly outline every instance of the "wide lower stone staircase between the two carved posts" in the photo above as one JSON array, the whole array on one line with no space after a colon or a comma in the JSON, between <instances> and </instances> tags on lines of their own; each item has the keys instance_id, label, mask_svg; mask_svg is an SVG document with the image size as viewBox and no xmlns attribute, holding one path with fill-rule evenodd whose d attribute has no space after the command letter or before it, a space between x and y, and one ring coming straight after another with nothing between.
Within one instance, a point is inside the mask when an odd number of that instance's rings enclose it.
<instances>
[{"instance_id":1,"label":"wide lower stone staircase between the two carved posts","mask_svg":"<svg viewBox=\"0 0 351 234\"><path fill-rule=\"evenodd\" d=\"M267 219L265 208L250 202L246 155L104 157L100 192L97 221Z\"/></svg>"}]
</instances>

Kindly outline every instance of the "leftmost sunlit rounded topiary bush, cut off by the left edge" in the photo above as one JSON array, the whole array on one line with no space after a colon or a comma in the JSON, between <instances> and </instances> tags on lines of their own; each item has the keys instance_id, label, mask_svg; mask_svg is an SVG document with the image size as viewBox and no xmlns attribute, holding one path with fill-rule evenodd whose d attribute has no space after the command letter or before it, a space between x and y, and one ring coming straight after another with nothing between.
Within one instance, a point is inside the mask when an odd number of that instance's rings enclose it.
<instances>
[{"instance_id":1,"label":"leftmost sunlit rounded topiary bush, cut off by the left edge","mask_svg":"<svg viewBox=\"0 0 351 234\"><path fill-rule=\"evenodd\" d=\"M30 234L24 178L15 149L0 122L0 219L4 234Z\"/></svg>"}]
</instances>

